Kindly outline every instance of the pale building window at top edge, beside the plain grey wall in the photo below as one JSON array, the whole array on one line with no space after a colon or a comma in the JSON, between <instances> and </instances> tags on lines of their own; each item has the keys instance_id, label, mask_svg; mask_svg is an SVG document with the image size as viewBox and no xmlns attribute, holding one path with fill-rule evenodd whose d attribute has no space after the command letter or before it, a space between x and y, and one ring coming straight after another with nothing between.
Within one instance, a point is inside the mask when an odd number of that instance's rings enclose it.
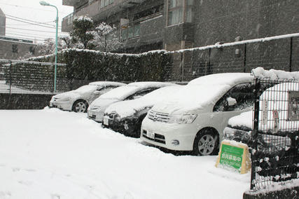
<instances>
[{"instance_id":1,"label":"pale building window at top edge, beside the plain grey wall","mask_svg":"<svg viewBox=\"0 0 299 199\"><path fill-rule=\"evenodd\" d=\"M193 22L194 0L168 0L167 25Z\"/></svg>"}]
</instances>

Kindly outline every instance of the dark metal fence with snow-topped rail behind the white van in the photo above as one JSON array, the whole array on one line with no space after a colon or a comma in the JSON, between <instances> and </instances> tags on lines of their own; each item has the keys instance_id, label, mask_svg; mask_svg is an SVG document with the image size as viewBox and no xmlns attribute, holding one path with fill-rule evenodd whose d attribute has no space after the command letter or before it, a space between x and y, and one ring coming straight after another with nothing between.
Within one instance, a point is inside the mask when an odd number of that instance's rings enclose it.
<instances>
[{"instance_id":1,"label":"dark metal fence with snow-topped rail behind the white van","mask_svg":"<svg viewBox=\"0 0 299 199\"><path fill-rule=\"evenodd\" d=\"M256 67L299 71L299 34L218 43L172 53L172 79L190 81L215 73L251 72Z\"/></svg>"}]
</instances>

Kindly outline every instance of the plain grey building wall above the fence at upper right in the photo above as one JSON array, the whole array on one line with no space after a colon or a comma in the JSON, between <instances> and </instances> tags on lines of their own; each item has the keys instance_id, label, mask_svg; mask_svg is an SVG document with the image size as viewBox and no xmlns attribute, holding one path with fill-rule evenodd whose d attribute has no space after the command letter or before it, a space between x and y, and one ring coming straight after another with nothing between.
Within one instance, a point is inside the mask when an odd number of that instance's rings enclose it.
<instances>
[{"instance_id":1,"label":"plain grey building wall above the fence at upper right","mask_svg":"<svg viewBox=\"0 0 299 199\"><path fill-rule=\"evenodd\" d=\"M299 32L298 0L196 1L194 46Z\"/></svg>"}]
</instances>

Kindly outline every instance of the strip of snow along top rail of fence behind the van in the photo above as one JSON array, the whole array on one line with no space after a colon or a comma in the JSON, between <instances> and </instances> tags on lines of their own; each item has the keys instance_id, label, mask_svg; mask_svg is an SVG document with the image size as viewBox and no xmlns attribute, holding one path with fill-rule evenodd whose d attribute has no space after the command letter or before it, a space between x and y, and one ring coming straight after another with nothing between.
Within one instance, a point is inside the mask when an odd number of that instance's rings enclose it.
<instances>
[{"instance_id":1,"label":"strip of snow along top rail of fence behind the van","mask_svg":"<svg viewBox=\"0 0 299 199\"><path fill-rule=\"evenodd\" d=\"M295 37L295 36L299 36L299 33L284 34L284 35L279 35L279 36L270 36L270 37L265 37L265 38L260 38L260 39L249 39L249 40L236 41L236 42L231 42L231 43L214 44L214 45L197 47L197 48L188 48L188 49L176 50L176 51L172 51L172 52L183 53L183 52L192 51L192 50L207 50L209 48L223 48L223 47L227 47L227 46L242 45L242 44L245 44L245 43L257 43L257 42L272 41L272 40L276 40L276 39L287 39L287 38L291 38L291 37Z\"/></svg>"}]
</instances>

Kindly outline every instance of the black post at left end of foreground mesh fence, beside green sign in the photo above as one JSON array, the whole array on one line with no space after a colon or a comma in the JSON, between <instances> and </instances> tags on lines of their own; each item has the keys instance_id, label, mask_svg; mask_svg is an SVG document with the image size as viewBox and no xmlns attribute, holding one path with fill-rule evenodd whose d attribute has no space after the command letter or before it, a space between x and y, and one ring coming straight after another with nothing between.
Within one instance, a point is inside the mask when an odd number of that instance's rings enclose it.
<instances>
[{"instance_id":1,"label":"black post at left end of foreground mesh fence, beside green sign","mask_svg":"<svg viewBox=\"0 0 299 199\"><path fill-rule=\"evenodd\" d=\"M254 96L256 96L256 102L254 102L254 111L253 111L253 132L252 132L252 151L251 151L251 181L250 189L254 188L254 179L256 178L256 156L254 153L258 149L258 120L259 120L259 111L260 111L260 79L255 78L254 80Z\"/></svg>"}]
</instances>

